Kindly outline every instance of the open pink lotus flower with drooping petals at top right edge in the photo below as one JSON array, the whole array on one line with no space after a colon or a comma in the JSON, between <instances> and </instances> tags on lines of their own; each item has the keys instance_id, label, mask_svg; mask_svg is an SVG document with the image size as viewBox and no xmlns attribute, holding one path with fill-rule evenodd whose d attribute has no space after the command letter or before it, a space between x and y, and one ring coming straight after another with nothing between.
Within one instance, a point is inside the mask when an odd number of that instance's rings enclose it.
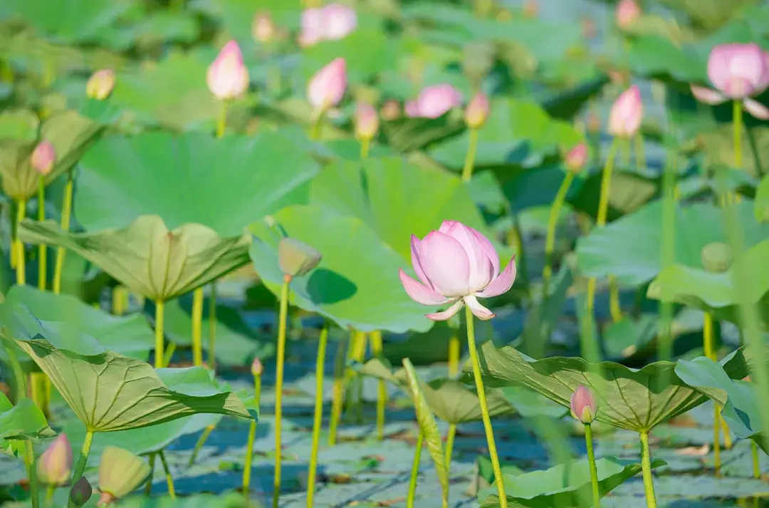
<instances>
[{"instance_id":1,"label":"open pink lotus flower with drooping petals at top right edge","mask_svg":"<svg viewBox=\"0 0 769 508\"><path fill-rule=\"evenodd\" d=\"M697 100L705 104L741 101L744 109L758 119L769 119L769 109L751 96L769 86L769 53L757 44L721 44L707 58L707 79L716 88L691 86Z\"/></svg>"}]
</instances>

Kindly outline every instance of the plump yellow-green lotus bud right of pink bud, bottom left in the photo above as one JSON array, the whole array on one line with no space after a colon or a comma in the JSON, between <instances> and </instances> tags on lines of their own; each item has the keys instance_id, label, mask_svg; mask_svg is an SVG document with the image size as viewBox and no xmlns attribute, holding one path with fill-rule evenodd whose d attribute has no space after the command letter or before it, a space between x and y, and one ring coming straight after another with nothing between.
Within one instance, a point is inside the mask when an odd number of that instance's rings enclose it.
<instances>
[{"instance_id":1,"label":"plump yellow-green lotus bud right of pink bud, bottom left","mask_svg":"<svg viewBox=\"0 0 769 508\"><path fill-rule=\"evenodd\" d=\"M98 466L98 490L102 491L99 503L122 499L144 483L150 473L145 460L117 446L105 446Z\"/></svg>"}]
</instances>

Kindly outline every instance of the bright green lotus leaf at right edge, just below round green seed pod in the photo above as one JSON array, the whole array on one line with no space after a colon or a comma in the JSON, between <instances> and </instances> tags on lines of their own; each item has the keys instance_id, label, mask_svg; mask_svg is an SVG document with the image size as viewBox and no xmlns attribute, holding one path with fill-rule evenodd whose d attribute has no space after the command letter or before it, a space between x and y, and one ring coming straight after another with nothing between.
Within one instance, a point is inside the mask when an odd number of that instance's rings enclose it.
<instances>
[{"instance_id":1,"label":"bright green lotus leaf at right edge, just below round green seed pod","mask_svg":"<svg viewBox=\"0 0 769 508\"><path fill-rule=\"evenodd\" d=\"M676 263L663 269L649 286L647 296L661 302L676 302L713 312L718 319L737 323L741 302L757 304L764 317L769 316L769 240L743 252L741 259L751 278L737 295L734 272L729 266L724 272L709 272Z\"/></svg>"}]
</instances>

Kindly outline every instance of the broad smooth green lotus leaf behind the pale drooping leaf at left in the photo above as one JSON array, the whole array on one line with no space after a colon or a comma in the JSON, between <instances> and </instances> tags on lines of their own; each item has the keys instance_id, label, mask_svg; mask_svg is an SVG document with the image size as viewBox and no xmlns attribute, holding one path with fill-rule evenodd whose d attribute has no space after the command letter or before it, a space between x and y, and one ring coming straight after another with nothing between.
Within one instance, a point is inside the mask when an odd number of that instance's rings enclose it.
<instances>
[{"instance_id":1,"label":"broad smooth green lotus leaf behind the pale drooping leaf at left","mask_svg":"<svg viewBox=\"0 0 769 508\"><path fill-rule=\"evenodd\" d=\"M88 231L158 215L170 229L195 222L221 236L240 235L277 211L286 194L319 170L280 132L224 139L195 132L115 136L98 142L80 167L75 213Z\"/></svg>"}]
</instances>

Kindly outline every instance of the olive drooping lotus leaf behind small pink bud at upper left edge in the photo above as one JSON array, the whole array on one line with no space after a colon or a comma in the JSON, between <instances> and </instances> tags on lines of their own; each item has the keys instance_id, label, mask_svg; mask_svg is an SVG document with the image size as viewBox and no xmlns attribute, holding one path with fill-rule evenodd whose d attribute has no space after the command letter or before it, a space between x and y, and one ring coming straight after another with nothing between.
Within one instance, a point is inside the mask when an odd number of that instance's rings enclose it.
<instances>
[{"instance_id":1,"label":"olive drooping lotus leaf behind small pink bud at upper left edge","mask_svg":"<svg viewBox=\"0 0 769 508\"><path fill-rule=\"evenodd\" d=\"M39 141L51 142L56 162L45 182L53 182L62 172L72 168L102 133L102 125L74 111L52 115L43 123L38 141L4 139L0 142L0 175L5 194L12 199L29 199L38 191L40 173L32 168L32 150Z\"/></svg>"}]
</instances>

